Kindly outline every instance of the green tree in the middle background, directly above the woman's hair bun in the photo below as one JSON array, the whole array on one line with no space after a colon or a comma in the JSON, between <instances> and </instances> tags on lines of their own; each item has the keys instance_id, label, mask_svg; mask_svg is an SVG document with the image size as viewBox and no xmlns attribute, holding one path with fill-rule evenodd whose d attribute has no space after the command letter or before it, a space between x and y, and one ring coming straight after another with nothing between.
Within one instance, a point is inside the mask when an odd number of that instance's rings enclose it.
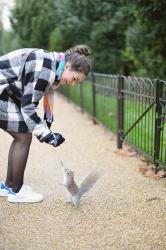
<instances>
[{"instance_id":1,"label":"green tree in the middle background, directly above the woman's hair bun","mask_svg":"<svg viewBox=\"0 0 166 250\"><path fill-rule=\"evenodd\" d=\"M95 71L124 72L124 32L130 17L123 0L57 0L56 6L63 48L87 43L93 51Z\"/></svg>"}]
</instances>

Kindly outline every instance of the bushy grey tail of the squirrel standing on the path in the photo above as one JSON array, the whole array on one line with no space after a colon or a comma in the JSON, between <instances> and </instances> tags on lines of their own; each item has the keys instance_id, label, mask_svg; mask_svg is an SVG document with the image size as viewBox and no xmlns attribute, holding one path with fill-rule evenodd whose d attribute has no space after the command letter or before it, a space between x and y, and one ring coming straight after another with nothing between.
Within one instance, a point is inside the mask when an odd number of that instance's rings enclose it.
<instances>
[{"instance_id":1,"label":"bushy grey tail of the squirrel standing on the path","mask_svg":"<svg viewBox=\"0 0 166 250\"><path fill-rule=\"evenodd\" d=\"M83 195L84 193L87 193L103 174L104 171L102 169L93 169L88 174L88 176L81 182L79 186L80 194Z\"/></svg>"}]
</instances>

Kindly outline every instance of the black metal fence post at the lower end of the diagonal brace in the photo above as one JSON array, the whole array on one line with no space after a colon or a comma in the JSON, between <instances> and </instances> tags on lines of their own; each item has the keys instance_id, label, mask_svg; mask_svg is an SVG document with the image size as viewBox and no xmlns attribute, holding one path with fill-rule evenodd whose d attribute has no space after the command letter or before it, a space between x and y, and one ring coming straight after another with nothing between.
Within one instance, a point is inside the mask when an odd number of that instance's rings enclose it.
<instances>
[{"instance_id":1,"label":"black metal fence post at the lower end of the diagonal brace","mask_svg":"<svg viewBox=\"0 0 166 250\"><path fill-rule=\"evenodd\" d=\"M118 100L117 100L117 148L122 148L124 127L124 77L118 77Z\"/></svg>"}]
</instances>

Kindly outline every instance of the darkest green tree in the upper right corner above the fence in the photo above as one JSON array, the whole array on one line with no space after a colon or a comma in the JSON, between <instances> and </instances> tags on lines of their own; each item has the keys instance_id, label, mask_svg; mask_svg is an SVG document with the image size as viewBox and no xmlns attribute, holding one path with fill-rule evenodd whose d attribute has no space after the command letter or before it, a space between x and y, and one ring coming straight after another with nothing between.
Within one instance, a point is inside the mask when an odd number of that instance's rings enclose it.
<instances>
[{"instance_id":1,"label":"darkest green tree in the upper right corner above the fence","mask_svg":"<svg viewBox=\"0 0 166 250\"><path fill-rule=\"evenodd\" d=\"M130 52L135 62L137 61L135 70L141 75L164 78L166 2L138 0L132 4L132 12L135 22L128 28L127 45L131 48Z\"/></svg>"}]
</instances>

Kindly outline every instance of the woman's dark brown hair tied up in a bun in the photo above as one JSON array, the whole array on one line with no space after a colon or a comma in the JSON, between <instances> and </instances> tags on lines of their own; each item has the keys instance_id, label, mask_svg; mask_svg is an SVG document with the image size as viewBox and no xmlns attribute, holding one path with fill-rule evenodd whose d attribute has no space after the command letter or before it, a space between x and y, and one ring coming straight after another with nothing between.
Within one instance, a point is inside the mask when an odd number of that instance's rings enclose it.
<instances>
[{"instance_id":1,"label":"woman's dark brown hair tied up in a bun","mask_svg":"<svg viewBox=\"0 0 166 250\"><path fill-rule=\"evenodd\" d=\"M92 66L90 59L91 49L88 46L84 44L76 45L75 47L67 50L65 55L66 62L71 63L73 70L88 75Z\"/></svg>"}]
</instances>

